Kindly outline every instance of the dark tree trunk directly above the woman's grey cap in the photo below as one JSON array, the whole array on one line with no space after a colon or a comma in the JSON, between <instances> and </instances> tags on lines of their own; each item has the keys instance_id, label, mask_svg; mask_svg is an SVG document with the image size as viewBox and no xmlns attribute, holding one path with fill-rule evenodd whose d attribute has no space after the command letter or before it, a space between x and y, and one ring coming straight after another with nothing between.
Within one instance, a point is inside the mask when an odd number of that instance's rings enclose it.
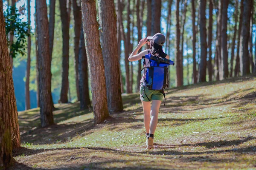
<instances>
[{"instance_id":1,"label":"dark tree trunk directly above the woman's grey cap","mask_svg":"<svg viewBox=\"0 0 256 170\"><path fill-rule=\"evenodd\" d=\"M151 35L161 33L161 0L151 2Z\"/></svg>"}]
</instances>

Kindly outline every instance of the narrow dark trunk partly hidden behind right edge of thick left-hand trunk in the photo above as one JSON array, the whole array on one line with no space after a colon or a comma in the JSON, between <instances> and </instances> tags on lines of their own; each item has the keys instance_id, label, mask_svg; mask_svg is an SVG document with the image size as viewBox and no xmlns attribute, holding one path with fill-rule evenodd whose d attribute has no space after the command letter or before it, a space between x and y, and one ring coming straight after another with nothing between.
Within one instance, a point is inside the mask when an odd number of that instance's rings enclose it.
<instances>
[{"instance_id":1,"label":"narrow dark trunk partly hidden behind right edge of thick left-hand trunk","mask_svg":"<svg viewBox=\"0 0 256 170\"><path fill-rule=\"evenodd\" d=\"M50 10L49 10L50 11L50 14L49 14L49 53L50 53L50 64L51 65L52 65L52 49L53 49L54 25L55 25L55 1L56 0L50 0ZM52 72L51 72L51 80L52 80ZM52 87L52 83L51 83L51 87ZM52 105L52 108L54 109L52 93L51 93L51 105Z\"/></svg>"}]
</instances>

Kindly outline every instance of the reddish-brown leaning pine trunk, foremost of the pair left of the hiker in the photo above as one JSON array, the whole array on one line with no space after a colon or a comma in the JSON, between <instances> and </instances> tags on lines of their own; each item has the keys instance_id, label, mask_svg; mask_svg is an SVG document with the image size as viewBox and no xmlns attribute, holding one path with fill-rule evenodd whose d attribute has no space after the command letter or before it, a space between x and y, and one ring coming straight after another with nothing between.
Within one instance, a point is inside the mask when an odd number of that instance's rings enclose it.
<instances>
[{"instance_id":1,"label":"reddish-brown leaning pine trunk, foremost of the pair left of the hiker","mask_svg":"<svg viewBox=\"0 0 256 170\"><path fill-rule=\"evenodd\" d=\"M94 122L95 124L98 124L107 119L109 117L109 113L105 81L105 69L104 62L102 60L102 49L99 41L99 24L97 23L96 19L95 1L81 0L81 10L85 47L86 51L90 51L88 63L90 69ZM117 77L117 79L118 78L119 77Z\"/></svg>"}]
</instances>

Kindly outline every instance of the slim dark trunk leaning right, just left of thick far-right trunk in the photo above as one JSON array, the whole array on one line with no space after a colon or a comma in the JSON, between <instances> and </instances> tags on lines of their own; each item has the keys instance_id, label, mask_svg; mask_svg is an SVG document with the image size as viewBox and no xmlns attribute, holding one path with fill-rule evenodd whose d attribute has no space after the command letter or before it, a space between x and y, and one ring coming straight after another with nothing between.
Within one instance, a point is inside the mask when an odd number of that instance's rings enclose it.
<instances>
[{"instance_id":1,"label":"slim dark trunk leaning right, just left of thick far-right trunk","mask_svg":"<svg viewBox=\"0 0 256 170\"><path fill-rule=\"evenodd\" d=\"M239 28L237 36L237 50L236 50L236 65L235 65L235 77L239 76L240 73L240 46L241 46L241 30L242 30L242 19L244 12L244 0L240 2L240 16L239 16Z\"/></svg>"}]
</instances>

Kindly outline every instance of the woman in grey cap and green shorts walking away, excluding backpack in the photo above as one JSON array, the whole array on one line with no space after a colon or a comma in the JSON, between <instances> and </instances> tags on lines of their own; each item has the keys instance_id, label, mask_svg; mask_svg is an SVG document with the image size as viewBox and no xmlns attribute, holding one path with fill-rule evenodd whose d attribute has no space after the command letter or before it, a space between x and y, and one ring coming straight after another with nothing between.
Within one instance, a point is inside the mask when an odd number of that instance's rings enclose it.
<instances>
[{"instance_id":1,"label":"woman in grey cap and green shorts walking away, excluding backpack","mask_svg":"<svg viewBox=\"0 0 256 170\"><path fill-rule=\"evenodd\" d=\"M163 44L166 38L163 34L157 33L153 37L147 37L140 40L137 47L129 56L129 61L137 61L147 54L160 58L169 59L169 56L163 52ZM143 45L148 44L150 48L137 54ZM144 65L148 65L148 59L145 59ZM146 129L146 148L154 148L154 133L157 127L157 118L160 104L163 101L163 93L160 90L149 90L145 83L145 72L140 81L140 100L143 105L144 125ZM150 106L151 101L151 106Z\"/></svg>"}]
</instances>

